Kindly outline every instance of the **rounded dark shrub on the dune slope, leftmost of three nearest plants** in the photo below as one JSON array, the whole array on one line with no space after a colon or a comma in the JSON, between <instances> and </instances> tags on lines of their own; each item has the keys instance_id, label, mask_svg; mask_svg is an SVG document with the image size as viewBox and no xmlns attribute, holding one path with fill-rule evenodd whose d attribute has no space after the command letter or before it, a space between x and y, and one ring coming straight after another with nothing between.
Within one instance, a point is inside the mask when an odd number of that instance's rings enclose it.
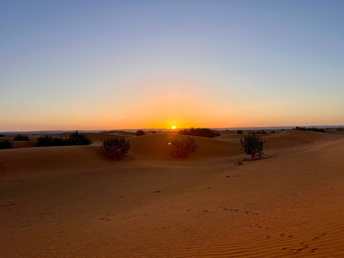
<instances>
[{"instance_id":1,"label":"rounded dark shrub on the dune slope, leftmost of three nearest plants","mask_svg":"<svg viewBox=\"0 0 344 258\"><path fill-rule=\"evenodd\" d=\"M118 160L120 158L127 157L127 153L130 149L130 140L126 140L126 138L123 137L108 137L105 138L103 142L103 145L100 146L101 149L105 150L105 153L110 154L110 158L114 160Z\"/></svg>"}]
</instances>

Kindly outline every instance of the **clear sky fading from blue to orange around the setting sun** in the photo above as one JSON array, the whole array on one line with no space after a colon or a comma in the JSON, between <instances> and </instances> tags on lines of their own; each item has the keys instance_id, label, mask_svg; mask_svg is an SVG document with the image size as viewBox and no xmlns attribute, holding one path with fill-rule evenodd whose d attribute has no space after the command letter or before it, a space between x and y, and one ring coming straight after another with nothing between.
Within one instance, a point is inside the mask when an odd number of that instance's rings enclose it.
<instances>
[{"instance_id":1,"label":"clear sky fading from blue to orange around the setting sun","mask_svg":"<svg viewBox=\"0 0 344 258\"><path fill-rule=\"evenodd\" d=\"M0 1L0 131L344 125L344 1Z\"/></svg>"}]
</instances>

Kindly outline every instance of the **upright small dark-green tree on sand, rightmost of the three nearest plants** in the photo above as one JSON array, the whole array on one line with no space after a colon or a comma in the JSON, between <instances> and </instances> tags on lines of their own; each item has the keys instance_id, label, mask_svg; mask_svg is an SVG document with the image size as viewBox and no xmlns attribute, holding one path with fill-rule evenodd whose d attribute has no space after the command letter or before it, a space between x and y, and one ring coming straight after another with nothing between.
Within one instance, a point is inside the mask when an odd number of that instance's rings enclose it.
<instances>
[{"instance_id":1,"label":"upright small dark-green tree on sand, rightmost of the three nearest plants","mask_svg":"<svg viewBox=\"0 0 344 258\"><path fill-rule=\"evenodd\" d=\"M256 136L255 132L245 135L244 141L241 138L240 143L241 148L239 149L239 151L241 151L241 153L245 153L246 155L251 155L251 160L254 157L260 158L261 155L264 153L263 147L265 141L263 141L263 139L261 139L259 136Z\"/></svg>"}]
</instances>

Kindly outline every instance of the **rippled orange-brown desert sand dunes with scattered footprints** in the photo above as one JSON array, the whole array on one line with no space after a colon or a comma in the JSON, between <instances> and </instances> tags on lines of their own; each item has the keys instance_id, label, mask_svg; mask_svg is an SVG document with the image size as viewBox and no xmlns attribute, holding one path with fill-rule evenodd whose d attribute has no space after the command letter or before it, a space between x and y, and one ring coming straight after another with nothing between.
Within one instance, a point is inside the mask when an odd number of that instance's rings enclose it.
<instances>
[{"instance_id":1,"label":"rippled orange-brown desert sand dunes with scattered footprints","mask_svg":"<svg viewBox=\"0 0 344 258\"><path fill-rule=\"evenodd\" d=\"M264 135L264 159L235 165L233 133L179 160L168 143L185 136L124 133L0 150L0 256L344 256L343 134ZM99 148L116 135L132 146L121 161Z\"/></svg>"}]
</instances>

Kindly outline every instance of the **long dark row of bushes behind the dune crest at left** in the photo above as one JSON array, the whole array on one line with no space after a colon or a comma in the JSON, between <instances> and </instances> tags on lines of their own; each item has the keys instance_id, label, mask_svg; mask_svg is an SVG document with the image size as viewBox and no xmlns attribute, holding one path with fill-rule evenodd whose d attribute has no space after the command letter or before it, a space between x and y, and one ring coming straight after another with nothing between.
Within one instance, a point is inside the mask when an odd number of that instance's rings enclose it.
<instances>
[{"instance_id":1,"label":"long dark row of bushes behind the dune crest at left","mask_svg":"<svg viewBox=\"0 0 344 258\"><path fill-rule=\"evenodd\" d=\"M52 137L50 135L40 136L37 138L37 147L49 146L72 146L72 145L89 145L92 140L87 138L85 133L75 131L69 134L69 138Z\"/></svg>"}]
</instances>

